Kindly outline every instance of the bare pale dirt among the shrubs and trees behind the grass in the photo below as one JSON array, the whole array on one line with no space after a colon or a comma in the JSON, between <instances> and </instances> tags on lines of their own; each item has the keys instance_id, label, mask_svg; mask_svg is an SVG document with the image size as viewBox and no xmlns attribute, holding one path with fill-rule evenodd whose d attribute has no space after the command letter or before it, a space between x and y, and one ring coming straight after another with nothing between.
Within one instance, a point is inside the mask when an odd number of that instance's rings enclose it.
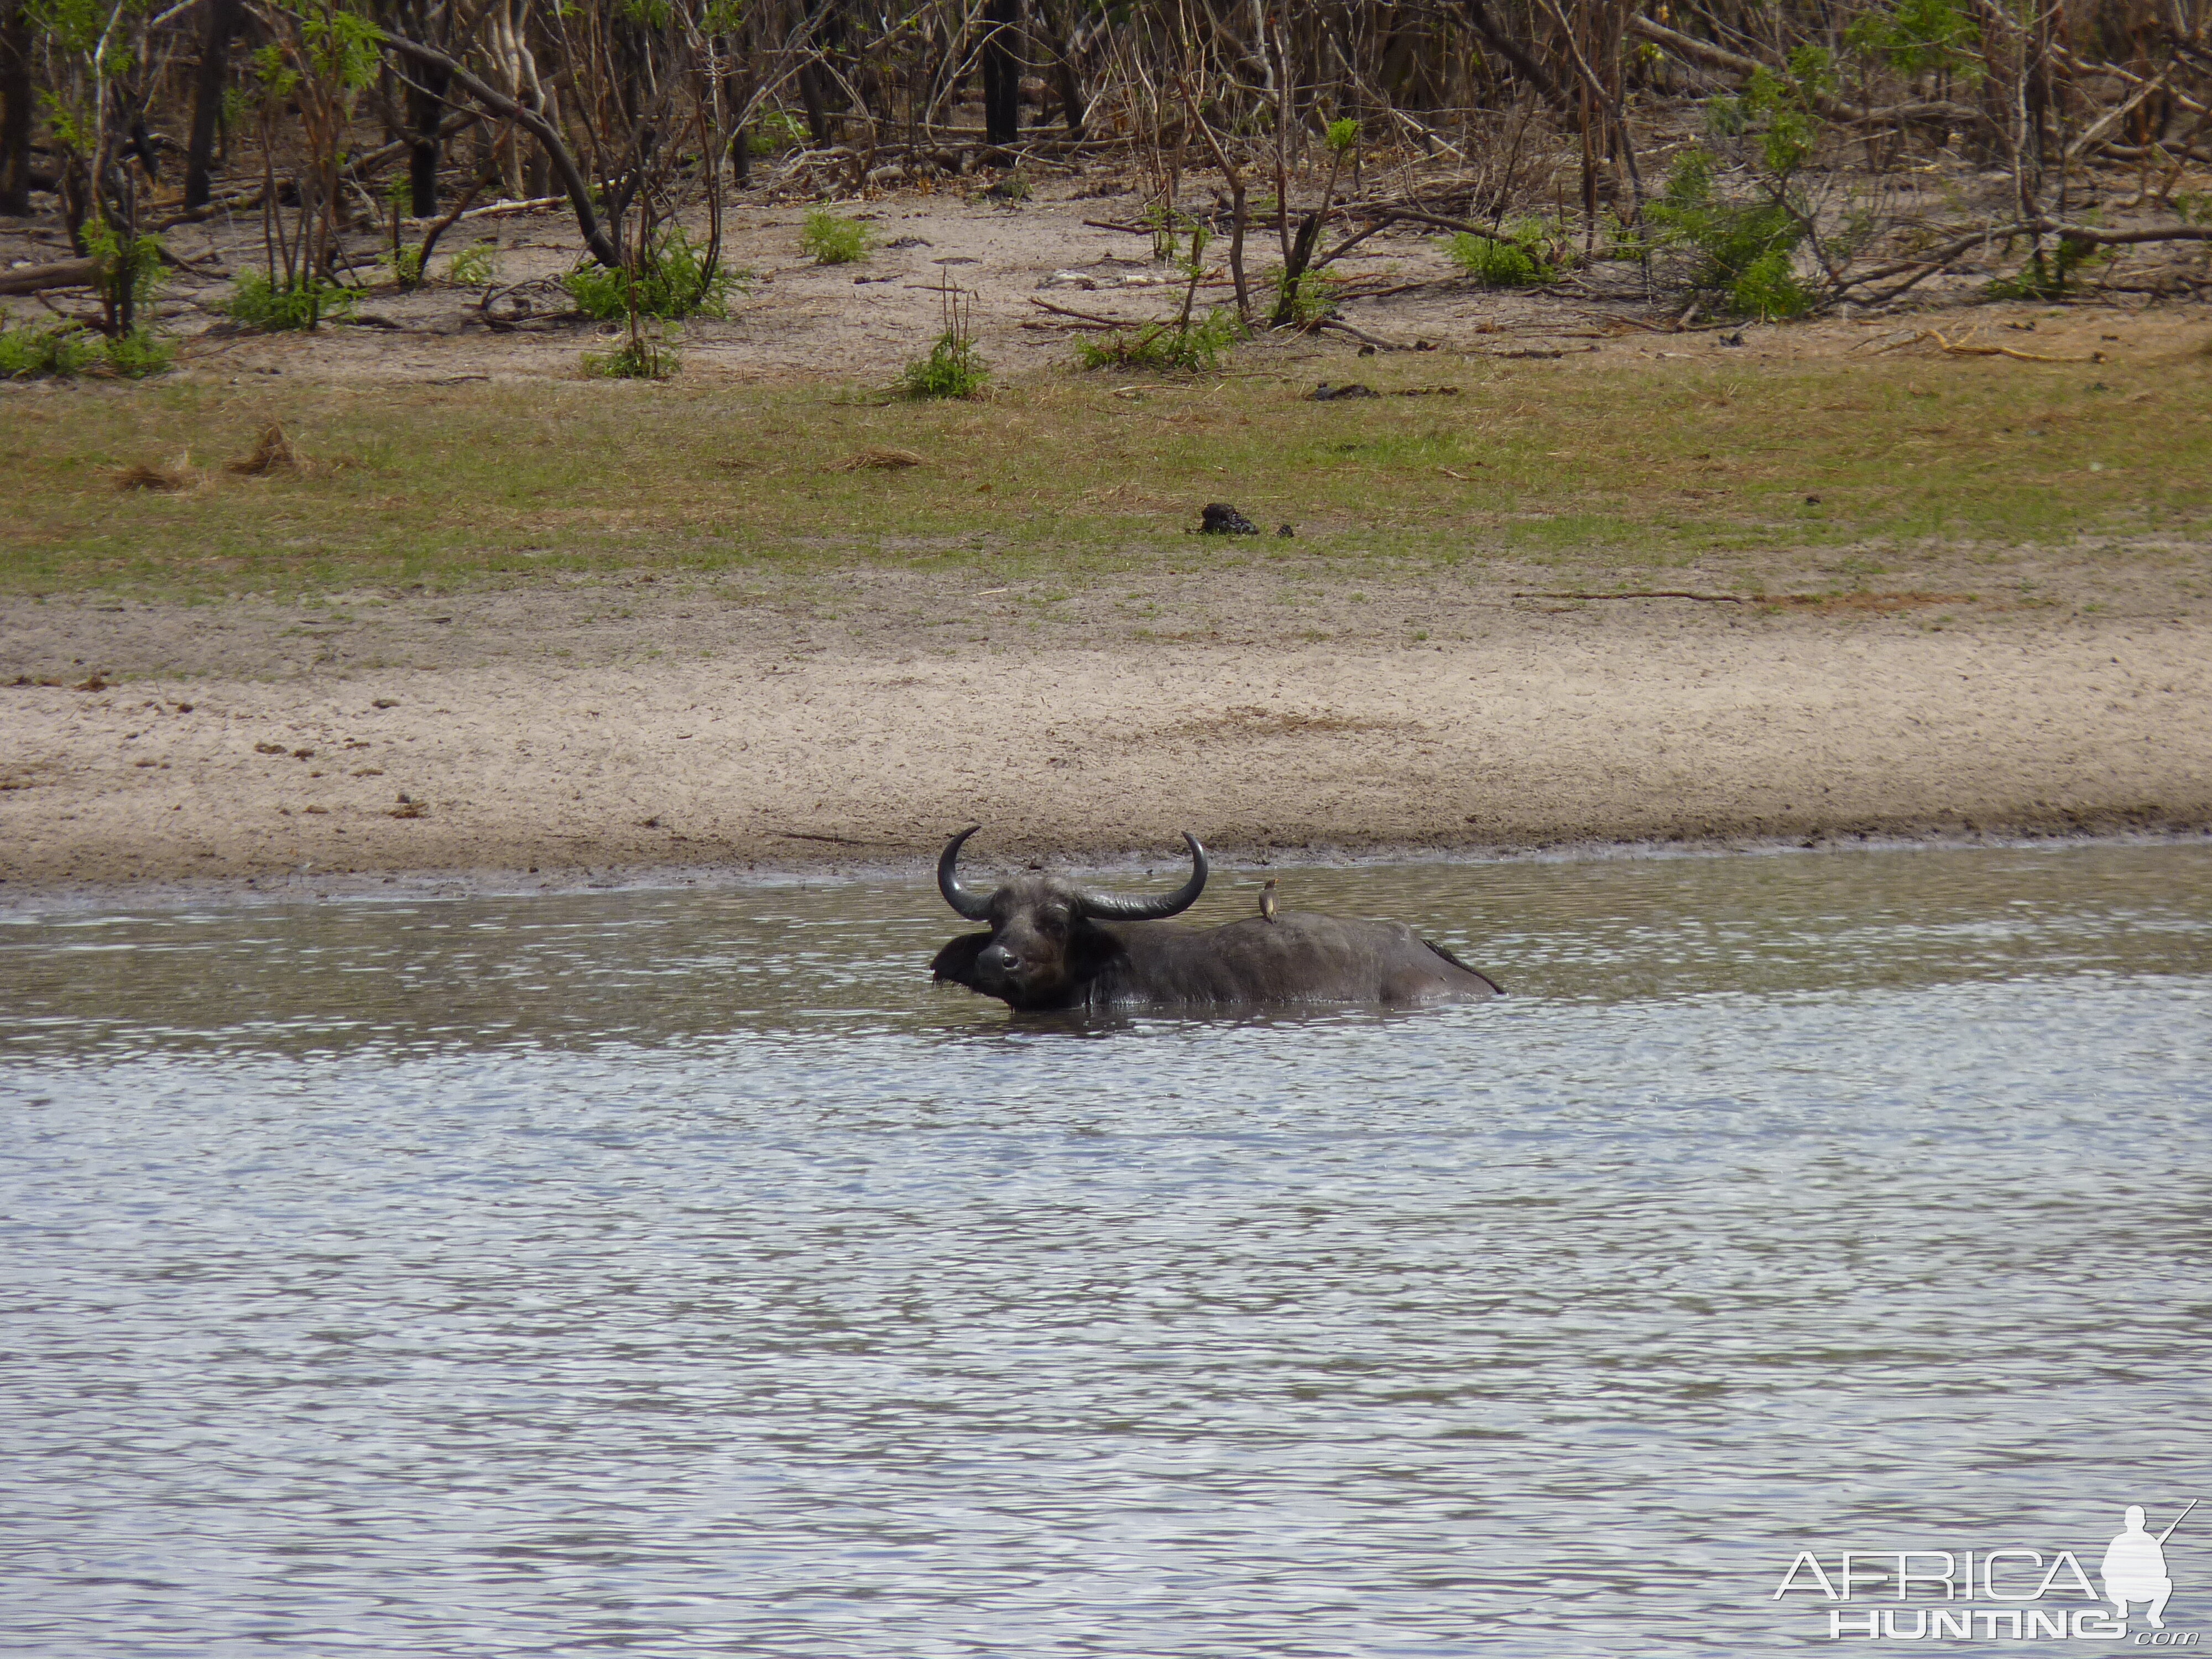
<instances>
[{"instance_id":1,"label":"bare pale dirt among the shrubs and trees behind the grass","mask_svg":"<svg viewBox=\"0 0 2212 1659\"><path fill-rule=\"evenodd\" d=\"M1962 164L1922 168L1907 179L1929 210L1955 210L2011 188L1995 173ZM1409 179L1411 184L1411 179ZM726 263L748 274L748 292L732 299L726 319L695 319L681 332L684 374L692 380L856 380L880 383L922 356L942 327L945 290L958 288L973 305L973 330L984 356L1002 376L1062 369L1084 330L1057 305L1097 319L1150 321L1170 316L1181 296L1172 265L1152 259L1152 239L1139 223L1141 201L1128 177L1110 166L1066 166L1037 177L1022 201L998 201L987 181L947 179L927 192L900 188L832 208L865 221L878 239L860 263L818 265L801 250L810 201L772 188L741 192L726 217ZM2126 217L2137 181L2112 175L2088 181L2077 212L2099 204ZM1208 210L1210 186L1194 177L1186 208ZM1907 208L1911 201L1905 204ZM409 246L425 223L409 221ZM695 228L703 237L703 226ZM2201 305L2157 303L2146 288L2188 294L2208 279L2201 252L2183 248L2130 250L2090 288L2090 305L2053 312L2046 305L1980 303L1995 270L1964 259L1913 290L1900 307L1874 316L1845 307L1838 316L1794 327L1725 327L1708 323L1674 330L1677 296L1646 288L1628 263L1590 263L1546 290L1486 290L1460 274L1440 250L1433 228L1394 226L1356 248L1332 279L1345 323L1385 349L1447 347L1475 354L1628 352L1666 358L1747 345L1765 354L1827 356L1876 347L1869 327L1898 338L1918 327L1942 327L1947 338L1989 338L2013 349L2086 354L2101 345L2117 316L2139 338L2137 349L2166 349L2181 334L2201 332ZM493 250L493 276L453 285L445 272L471 243ZM453 383L460 378L575 378L582 354L615 334L613 325L577 316L560 276L582 259L582 239L566 206L513 212L491 204L453 226L431 259L431 281L403 292L376 261L383 232L356 230L349 239L349 281L365 299L347 325L316 334L241 332L221 314L232 276L261 263L259 210L177 223L164 246L181 261L159 301L161 325L184 343L184 365L212 378L310 374L330 383ZM62 230L51 221L0 221L0 268L66 259ZM1228 303L1232 283L1225 243L1208 250L1212 272L1199 290L1201 307ZM1995 254L1991 254L1995 259ZM1248 270L1254 292L1270 263L1279 263L1276 234L1254 226ZM2185 279L2177 288L2177 274ZM60 310L71 310L58 301ZM518 303L529 314L518 314ZM80 301L82 305L82 301ZM0 299L0 316L20 323L46 319L35 299ZM49 319L51 321L51 319ZM2028 325L2042 338L2022 343ZM1349 338L1349 336L1338 336ZM1887 336L1885 336L1887 338ZM1265 358L1265 349L1259 354Z\"/></svg>"}]
</instances>

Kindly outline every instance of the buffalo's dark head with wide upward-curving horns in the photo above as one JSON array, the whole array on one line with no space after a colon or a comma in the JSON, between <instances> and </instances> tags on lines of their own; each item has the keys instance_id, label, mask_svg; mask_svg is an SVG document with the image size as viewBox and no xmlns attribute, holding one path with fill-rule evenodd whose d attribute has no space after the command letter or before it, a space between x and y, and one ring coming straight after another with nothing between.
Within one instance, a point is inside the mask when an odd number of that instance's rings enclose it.
<instances>
[{"instance_id":1,"label":"buffalo's dark head with wide upward-curving horns","mask_svg":"<svg viewBox=\"0 0 2212 1659\"><path fill-rule=\"evenodd\" d=\"M960 885L960 847L982 825L969 825L938 858L945 902L989 933L964 933L938 951L936 978L1002 998L1015 1009L1060 1009L1082 998L1119 942L1099 922L1152 922L1177 916L1206 891L1206 847L1188 830L1190 880L1164 898L1121 898L1057 876L1022 876L993 894Z\"/></svg>"}]
</instances>

